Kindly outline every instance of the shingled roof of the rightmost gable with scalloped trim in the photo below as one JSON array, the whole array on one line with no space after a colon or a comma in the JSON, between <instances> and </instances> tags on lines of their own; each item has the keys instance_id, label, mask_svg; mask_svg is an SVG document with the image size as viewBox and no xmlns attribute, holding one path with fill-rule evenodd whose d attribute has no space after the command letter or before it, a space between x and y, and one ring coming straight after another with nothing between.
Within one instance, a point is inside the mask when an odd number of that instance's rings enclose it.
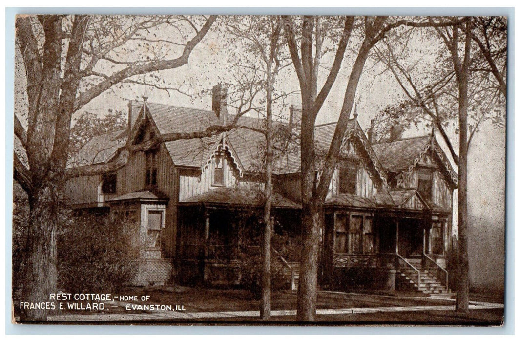
<instances>
[{"instance_id":1,"label":"shingled roof of the rightmost gable with scalloped trim","mask_svg":"<svg viewBox=\"0 0 520 342\"><path fill-rule=\"evenodd\" d=\"M446 179L453 187L457 187L457 172L453 170L451 162L435 136L425 135L373 144L372 149L387 172L412 172L422 156L428 151L432 151Z\"/></svg>"}]
</instances>

